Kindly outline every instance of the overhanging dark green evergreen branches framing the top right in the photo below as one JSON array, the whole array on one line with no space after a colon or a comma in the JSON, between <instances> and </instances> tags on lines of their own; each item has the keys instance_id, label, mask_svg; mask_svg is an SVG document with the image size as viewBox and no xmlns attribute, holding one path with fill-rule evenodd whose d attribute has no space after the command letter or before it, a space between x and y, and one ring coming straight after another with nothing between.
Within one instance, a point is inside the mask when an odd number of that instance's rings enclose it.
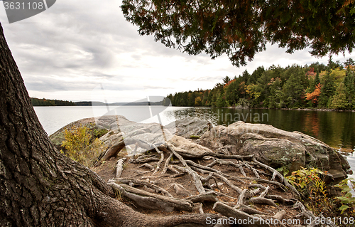
<instances>
[{"instance_id":1,"label":"overhanging dark green evergreen branches framing the top right","mask_svg":"<svg viewBox=\"0 0 355 227\"><path fill-rule=\"evenodd\" d=\"M153 35L168 47L190 55L226 54L246 65L266 43L287 53L312 48L313 56L351 53L353 3L342 1L122 1L126 20L141 35ZM251 81L255 83L255 81Z\"/></svg>"}]
</instances>

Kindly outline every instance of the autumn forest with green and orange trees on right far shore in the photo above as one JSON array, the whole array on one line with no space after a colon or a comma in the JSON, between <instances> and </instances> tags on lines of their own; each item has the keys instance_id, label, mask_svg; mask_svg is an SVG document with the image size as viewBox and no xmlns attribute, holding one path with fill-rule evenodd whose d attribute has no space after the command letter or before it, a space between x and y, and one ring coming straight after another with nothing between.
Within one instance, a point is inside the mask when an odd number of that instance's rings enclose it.
<instances>
[{"instance_id":1,"label":"autumn forest with green and orange trees on right far shore","mask_svg":"<svg viewBox=\"0 0 355 227\"><path fill-rule=\"evenodd\" d=\"M329 58L327 65L275 65L226 76L207 90L170 94L173 106L355 110L355 63Z\"/></svg>"}]
</instances>

